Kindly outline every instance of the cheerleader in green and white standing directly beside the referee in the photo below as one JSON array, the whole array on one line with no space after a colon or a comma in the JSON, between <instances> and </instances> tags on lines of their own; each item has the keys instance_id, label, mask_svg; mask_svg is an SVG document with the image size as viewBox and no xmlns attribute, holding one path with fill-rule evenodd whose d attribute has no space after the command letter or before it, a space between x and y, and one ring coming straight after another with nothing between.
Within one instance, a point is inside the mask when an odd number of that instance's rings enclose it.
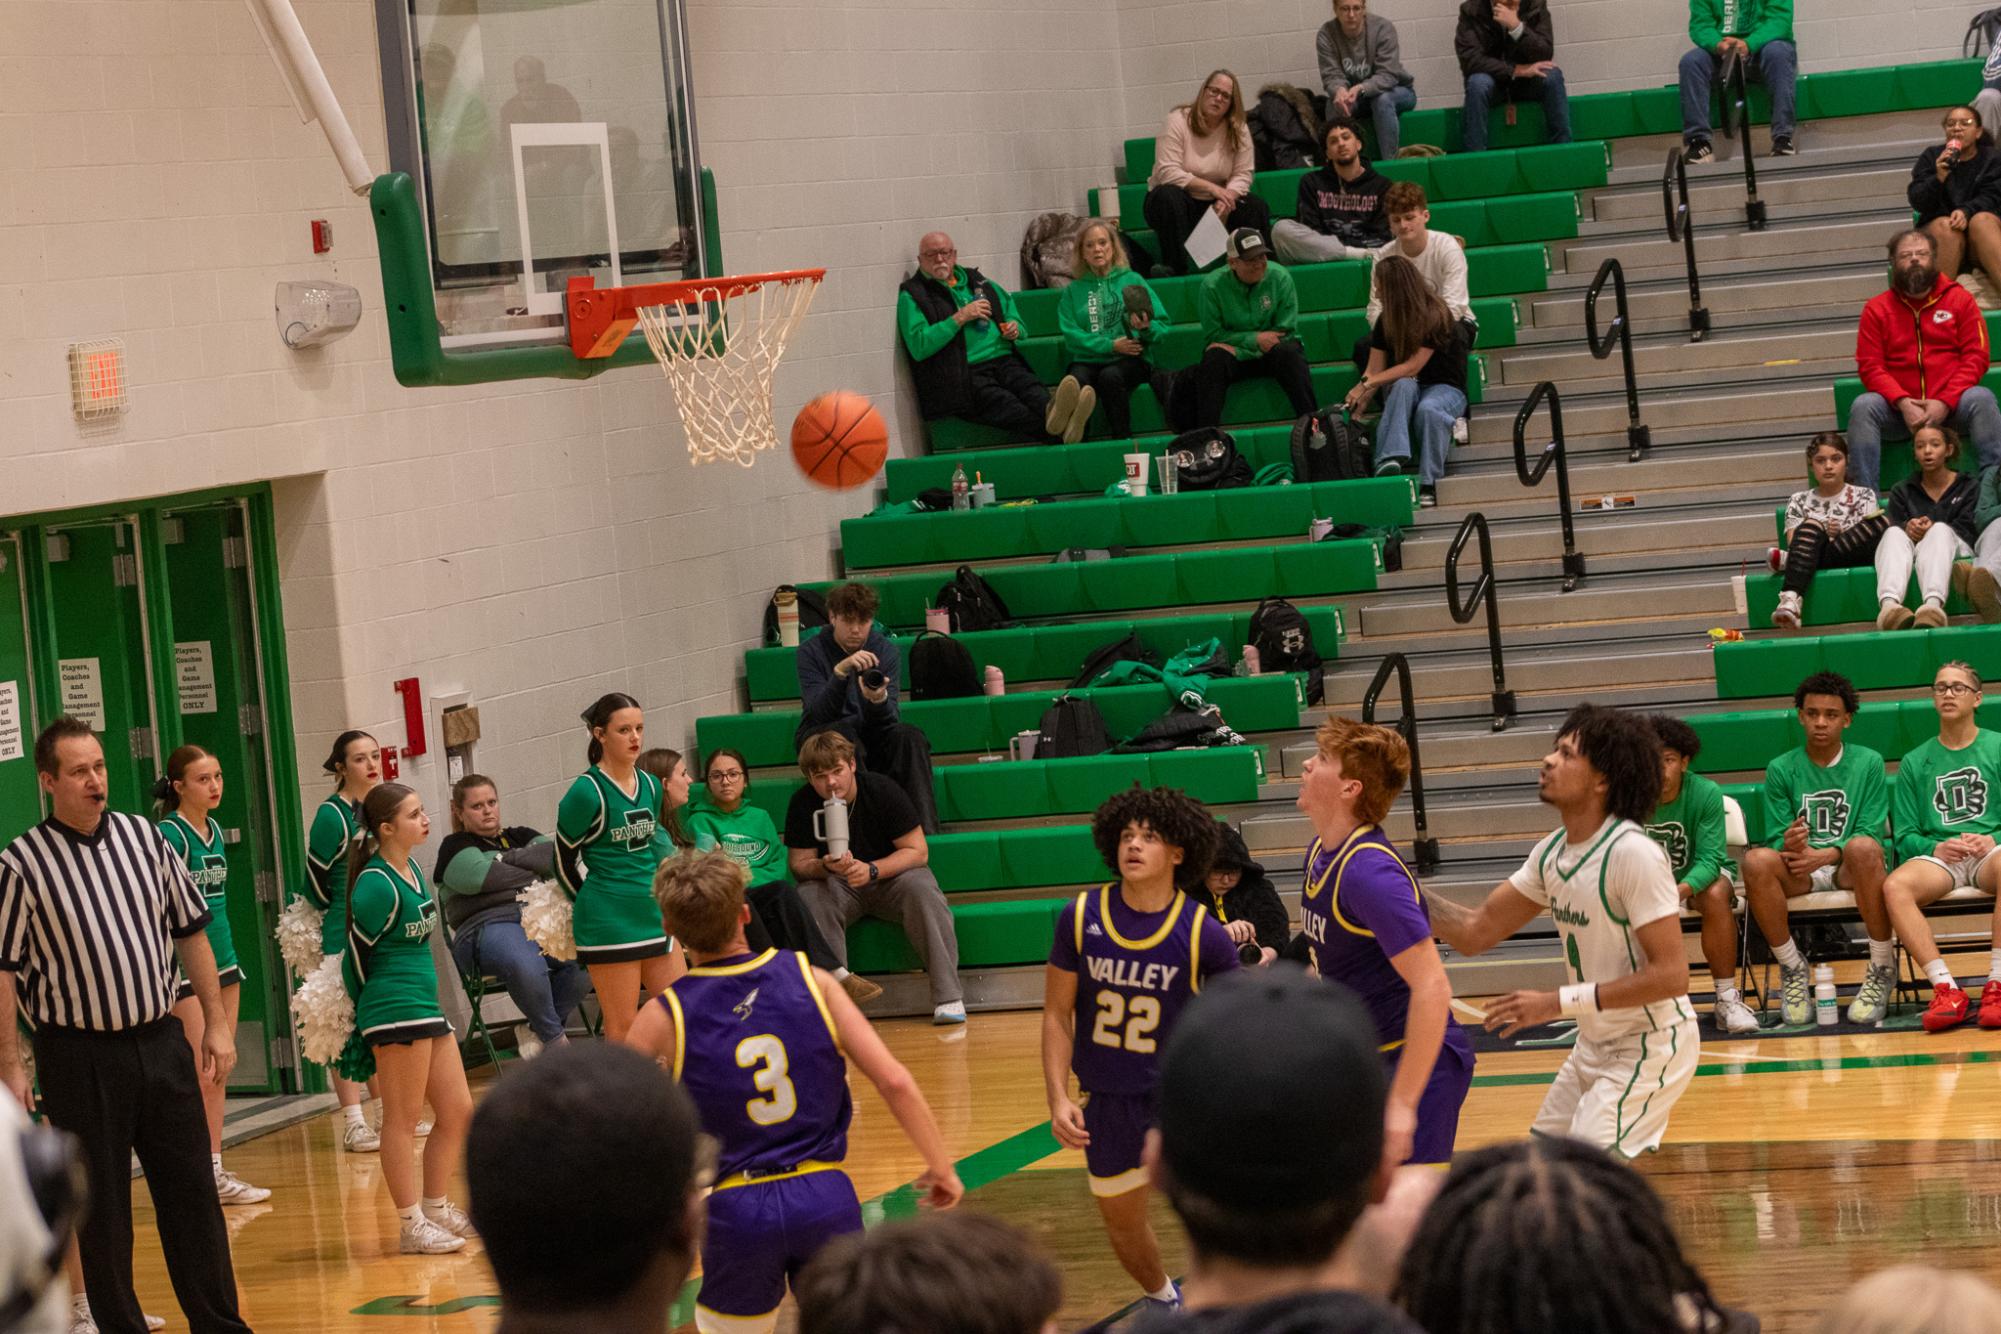
<instances>
[{"instance_id":1,"label":"cheerleader in green and white standing directly beside the referee","mask_svg":"<svg viewBox=\"0 0 2001 1334\"><path fill-rule=\"evenodd\" d=\"M222 762L200 746L182 746L166 756L166 774L154 784L152 814L160 836L194 878L194 888L208 902L208 948L216 952L216 984L222 988L222 1012L230 1034L236 1034L236 1012L242 1004L244 970L236 962L236 942L230 936L228 880L230 858L222 846L222 826L214 808L222 804ZM176 968L174 1018L188 1032L194 1066L202 1066L202 1002L194 984ZM202 1108L208 1112L208 1158L216 1170L216 1196L224 1204L262 1204L270 1192L252 1186L222 1166L222 1084L202 1084Z\"/></svg>"}]
</instances>

